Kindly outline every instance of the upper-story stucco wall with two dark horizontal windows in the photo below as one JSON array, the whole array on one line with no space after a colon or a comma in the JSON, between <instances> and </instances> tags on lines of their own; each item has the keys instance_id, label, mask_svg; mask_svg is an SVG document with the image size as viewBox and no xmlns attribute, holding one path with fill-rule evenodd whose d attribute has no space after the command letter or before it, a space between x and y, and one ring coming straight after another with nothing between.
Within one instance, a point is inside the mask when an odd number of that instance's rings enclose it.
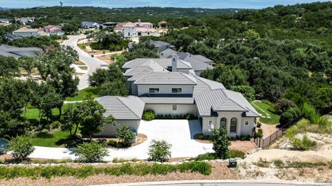
<instances>
[{"instance_id":1,"label":"upper-story stucco wall with two dark horizontal windows","mask_svg":"<svg viewBox=\"0 0 332 186\"><path fill-rule=\"evenodd\" d=\"M172 88L182 88L181 94L192 94L194 91L193 85L137 85L138 96L149 93L149 88L159 88L159 94L172 94Z\"/></svg>"}]
</instances>

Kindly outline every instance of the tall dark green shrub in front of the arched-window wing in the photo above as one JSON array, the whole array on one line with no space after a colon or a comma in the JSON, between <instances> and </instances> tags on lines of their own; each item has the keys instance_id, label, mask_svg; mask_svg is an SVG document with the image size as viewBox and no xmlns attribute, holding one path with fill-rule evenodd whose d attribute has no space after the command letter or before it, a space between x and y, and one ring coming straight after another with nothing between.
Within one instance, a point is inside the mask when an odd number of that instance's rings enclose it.
<instances>
[{"instance_id":1,"label":"tall dark green shrub in front of the arched-window wing","mask_svg":"<svg viewBox=\"0 0 332 186\"><path fill-rule=\"evenodd\" d=\"M230 140L227 134L226 127L219 127L214 129L210 136L211 143L213 144L214 152L219 158L225 159L230 155Z\"/></svg>"}]
</instances>

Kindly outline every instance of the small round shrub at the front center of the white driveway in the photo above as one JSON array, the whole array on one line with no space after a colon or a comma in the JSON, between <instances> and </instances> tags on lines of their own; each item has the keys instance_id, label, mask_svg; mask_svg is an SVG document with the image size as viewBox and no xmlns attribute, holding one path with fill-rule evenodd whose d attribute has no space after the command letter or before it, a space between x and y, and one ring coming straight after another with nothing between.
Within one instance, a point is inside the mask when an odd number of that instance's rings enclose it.
<instances>
[{"instance_id":1,"label":"small round shrub at the front center of the white driveway","mask_svg":"<svg viewBox=\"0 0 332 186\"><path fill-rule=\"evenodd\" d=\"M165 162L171 157L172 145L166 141L151 141L149 146L149 156L151 161Z\"/></svg>"}]
</instances>

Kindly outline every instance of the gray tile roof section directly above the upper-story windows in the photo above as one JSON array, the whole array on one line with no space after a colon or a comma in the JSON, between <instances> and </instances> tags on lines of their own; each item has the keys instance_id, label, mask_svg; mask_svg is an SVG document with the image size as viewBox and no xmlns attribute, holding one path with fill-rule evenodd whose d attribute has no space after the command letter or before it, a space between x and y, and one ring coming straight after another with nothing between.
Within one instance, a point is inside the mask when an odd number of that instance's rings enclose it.
<instances>
[{"instance_id":1,"label":"gray tile roof section directly above the upper-story windows","mask_svg":"<svg viewBox=\"0 0 332 186\"><path fill-rule=\"evenodd\" d=\"M196 85L194 76L183 72L149 72L141 79L136 80L135 85Z\"/></svg>"}]
</instances>

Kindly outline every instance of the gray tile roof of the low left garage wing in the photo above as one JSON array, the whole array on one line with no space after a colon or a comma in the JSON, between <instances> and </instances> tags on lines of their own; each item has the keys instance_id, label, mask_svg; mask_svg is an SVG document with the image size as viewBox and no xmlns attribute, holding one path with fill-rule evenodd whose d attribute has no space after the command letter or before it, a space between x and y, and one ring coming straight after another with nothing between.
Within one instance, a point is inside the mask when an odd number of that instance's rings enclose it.
<instances>
[{"instance_id":1,"label":"gray tile roof of the low left garage wing","mask_svg":"<svg viewBox=\"0 0 332 186\"><path fill-rule=\"evenodd\" d=\"M140 120L145 103L136 96L102 96L95 99L106 109L104 116L112 115L117 120Z\"/></svg>"}]
</instances>

